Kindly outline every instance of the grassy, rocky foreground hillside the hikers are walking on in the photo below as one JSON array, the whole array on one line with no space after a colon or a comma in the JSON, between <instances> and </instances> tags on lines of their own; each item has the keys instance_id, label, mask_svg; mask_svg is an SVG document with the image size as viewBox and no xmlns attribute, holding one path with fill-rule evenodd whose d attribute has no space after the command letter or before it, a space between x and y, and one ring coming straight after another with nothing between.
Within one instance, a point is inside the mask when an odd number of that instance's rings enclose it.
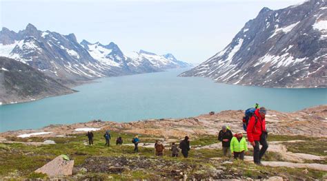
<instances>
[{"instance_id":1,"label":"grassy, rocky foreground hillside the hikers are walking on","mask_svg":"<svg viewBox=\"0 0 327 181\"><path fill-rule=\"evenodd\" d=\"M228 110L195 118L132 123L94 120L6 131L0 134L0 180L326 179L327 145L323 143L327 141L327 105L292 113L269 110L269 147L262 158L263 166L253 164L252 146L248 145L243 162L224 157L217 141L222 125L228 125L234 133L242 130L243 112ZM110 147L104 145L106 130L112 138ZM92 146L88 145L86 131L94 133ZM140 138L139 153L134 153L131 142L135 134ZM189 158L171 158L172 142L178 144L186 135L190 136ZM115 145L119 136L123 145ZM163 142L162 157L154 154L155 140ZM61 154L70 160L63 160Z\"/></svg>"}]
</instances>

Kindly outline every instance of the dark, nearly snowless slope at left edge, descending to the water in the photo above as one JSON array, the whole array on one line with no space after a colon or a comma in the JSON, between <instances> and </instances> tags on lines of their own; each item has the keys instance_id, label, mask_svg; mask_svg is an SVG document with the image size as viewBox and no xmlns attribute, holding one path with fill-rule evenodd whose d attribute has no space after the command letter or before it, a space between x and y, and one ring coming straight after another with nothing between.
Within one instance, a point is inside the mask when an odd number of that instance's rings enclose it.
<instances>
[{"instance_id":1,"label":"dark, nearly snowless slope at left edge, descending to the water","mask_svg":"<svg viewBox=\"0 0 327 181\"><path fill-rule=\"evenodd\" d=\"M73 92L30 65L0 56L0 105Z\"/></svg>"}]
</instances>

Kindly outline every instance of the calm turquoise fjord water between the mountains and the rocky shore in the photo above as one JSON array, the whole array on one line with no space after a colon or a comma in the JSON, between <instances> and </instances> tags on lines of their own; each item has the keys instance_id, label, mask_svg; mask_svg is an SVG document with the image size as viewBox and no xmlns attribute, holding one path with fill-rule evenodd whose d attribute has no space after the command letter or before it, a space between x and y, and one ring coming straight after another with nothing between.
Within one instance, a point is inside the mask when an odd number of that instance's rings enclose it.
<instances>
[{"instance_id":1,"label":"calm turquoise fjord water between the mountains and the rocky shore","mask_svg":"<svg viewBox=\"0 0 327 181\"><path fill-rule=\"evenodd\" d=\"M0 131L95 119L128 122L184 118L209 111L268 109L296 111L327 104L327 89L275 89L214 83L209 78L178 77L186 69L101 78L75 87L79 92L30 103L0 106ZM241 118L240 118L241 119Z\"/></svg>"}]
</instances>

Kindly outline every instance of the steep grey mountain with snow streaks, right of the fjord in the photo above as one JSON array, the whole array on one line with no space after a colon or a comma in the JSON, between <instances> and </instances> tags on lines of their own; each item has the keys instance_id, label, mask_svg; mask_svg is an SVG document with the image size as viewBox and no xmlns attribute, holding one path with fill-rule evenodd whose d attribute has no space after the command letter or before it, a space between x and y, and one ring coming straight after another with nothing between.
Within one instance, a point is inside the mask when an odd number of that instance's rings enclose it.
<instances>
[{"instance_id":1,"label":"steep grey mountain with snow streaks, right of the fjord","mask_svg":"<svg viewBox=\"0 0 327 181\"><path fill-rule=\"evenodd\" d=\"M327 87L327 5L263 8L224 50L180 76L263 87Z\"/></svg>"}]
</instances>

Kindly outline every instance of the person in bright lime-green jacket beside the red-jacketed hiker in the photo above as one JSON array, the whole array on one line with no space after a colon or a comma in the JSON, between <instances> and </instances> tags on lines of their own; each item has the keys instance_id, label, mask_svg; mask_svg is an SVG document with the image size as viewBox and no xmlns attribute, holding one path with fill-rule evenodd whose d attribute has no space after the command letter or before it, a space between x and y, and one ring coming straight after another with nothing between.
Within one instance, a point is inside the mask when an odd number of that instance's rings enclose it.
<instances>
[{"instance_id":1,"label":"person in bright lime-green jacket beside the red-jacketed hiker","mask_svg":"<svg viewBox=\"0 0 327 181\"><path fill-rule=\"evenodd\" d=\"M238 132L230 141L230 152L232 152L235 159L244 160L244 153L246 151L248 151L248 142L243 138L242 132Z\"/></svg>"}]
</instances>

